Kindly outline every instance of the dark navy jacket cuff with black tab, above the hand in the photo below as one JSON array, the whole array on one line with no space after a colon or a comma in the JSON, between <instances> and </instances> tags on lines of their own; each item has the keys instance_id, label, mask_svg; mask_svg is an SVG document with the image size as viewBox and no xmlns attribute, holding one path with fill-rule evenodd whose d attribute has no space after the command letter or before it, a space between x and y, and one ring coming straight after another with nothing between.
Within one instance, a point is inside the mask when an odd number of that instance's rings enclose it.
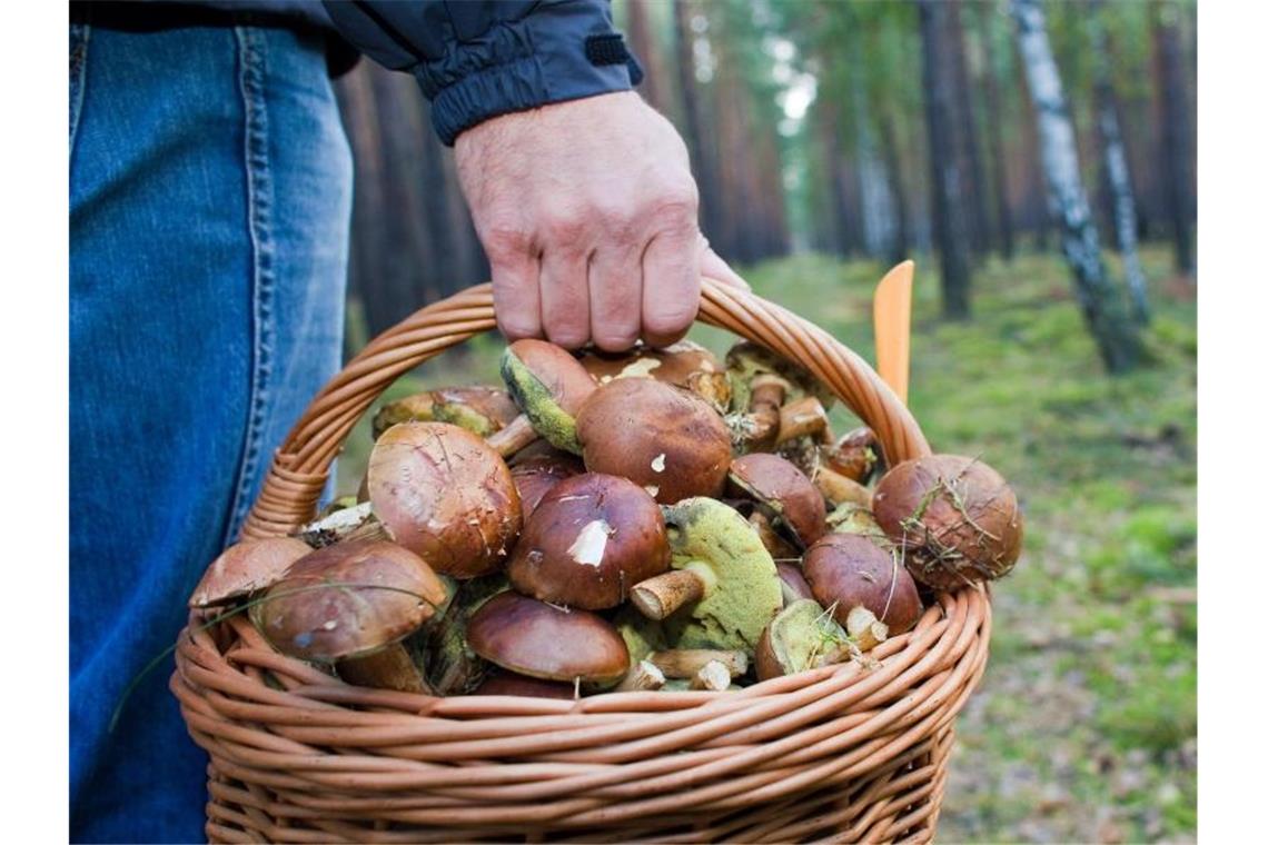
<instances>
[{"instance_id":1,"label":"dark navy jacket cuff with black tab, above the hand","mask_svg":"<svg viewBox=\"0 0 1268 845\"><path fill-rule=\"evenodd\" d=\"M543 3L411 70L446 146L489 118L628 91L643 76L606 4L595 3Z\"/></svg>"}]
</instances>

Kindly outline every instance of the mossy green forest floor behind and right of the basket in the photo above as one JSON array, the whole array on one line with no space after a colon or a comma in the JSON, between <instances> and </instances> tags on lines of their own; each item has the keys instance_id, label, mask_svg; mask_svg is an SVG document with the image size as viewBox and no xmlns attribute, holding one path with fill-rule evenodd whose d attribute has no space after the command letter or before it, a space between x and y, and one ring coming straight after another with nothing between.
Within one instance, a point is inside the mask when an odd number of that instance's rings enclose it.
<instances>
[{"instance_id":1,"label":"mossy green forest floor behind and right of the basket","mask_svg":"<svg viewBox=\"0 0 1268 845\"><path fill-rule=\"evenodd\" d=\"M1142 260L1151 360L1116 379L1058 256L984 266L967 322L938 318L936 266L917 269L912 409L935 448L980 455L1012 481L1027 527L994 590L990 664L957 722L940 841L1196 837L1197 309L1165 250ZM744 275L871 360L883 272L798 256ZM692 337L729 345L702 327ZM496 383L496 338L467 347L388 397ZM355 490L368 443L363 421L341 490Z\"/></svg>"}]
</instances>

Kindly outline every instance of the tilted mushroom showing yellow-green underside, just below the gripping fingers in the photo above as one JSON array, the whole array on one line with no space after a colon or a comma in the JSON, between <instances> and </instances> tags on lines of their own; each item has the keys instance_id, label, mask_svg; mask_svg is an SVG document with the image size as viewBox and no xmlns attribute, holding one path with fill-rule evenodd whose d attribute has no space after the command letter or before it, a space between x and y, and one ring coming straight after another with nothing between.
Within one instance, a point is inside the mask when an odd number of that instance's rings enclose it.
<instances>
[{"instance_id":1,"label":"tilted mushroom showing yellow-green underside, just below the gripping fingers","mask_svg":"<svg viewBox=\"0 0 1268 845\"><path fill-rule=\"evenodd\" d=\"M538 436L555 448L581 455L576 417L595 390L595 379L560 346L519 340L502 352L502 380L524 413L489 438L501 455L514 455Z\"/></svg>"}]
</instances>

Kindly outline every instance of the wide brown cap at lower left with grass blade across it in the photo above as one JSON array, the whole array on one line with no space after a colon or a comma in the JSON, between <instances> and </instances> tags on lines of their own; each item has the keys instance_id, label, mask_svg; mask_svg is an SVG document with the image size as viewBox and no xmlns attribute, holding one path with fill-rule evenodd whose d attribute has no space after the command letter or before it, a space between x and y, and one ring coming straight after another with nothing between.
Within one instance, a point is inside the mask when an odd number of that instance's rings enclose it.
<instances>
[{"instance_id":1,"label":"wide brown cap at lower left with grass blade across it","mask_svg":"<svg viewBox=\"0 0 1268 845\"><path fill-rule=\"evenodd\" d=\"M292 564L251 607L251 621L278 651L333 663L404 639L446 598L445 585L413 552L350 541Z\"/></svg>"}]
</instances>

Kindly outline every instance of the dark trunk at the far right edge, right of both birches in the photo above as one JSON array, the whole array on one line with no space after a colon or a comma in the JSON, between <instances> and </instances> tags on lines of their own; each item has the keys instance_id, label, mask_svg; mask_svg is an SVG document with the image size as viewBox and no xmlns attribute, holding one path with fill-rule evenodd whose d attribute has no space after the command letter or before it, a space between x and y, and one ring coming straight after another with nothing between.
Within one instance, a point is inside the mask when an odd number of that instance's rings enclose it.
<instances>
[{"instance_id":1,"label":"dark trunk at the far right edge, right of both birches","mask_svg":"<svg viewBox=\"0 0 1268 845\"><path fill-rule=\"evenodd\" d=\"M1194 271L1193 239L1189 223L1193 219L1193 158L1189 134L1188 90L1184 85L1183 58L1173 4L1158 4L1154 9L1154 51L1156 79L1161 86L1163 106L1163 167L1167 174L1167 212L1172 222L1175 243L1175 269L1192 275Z\"/></svg>"}]
</instances>

